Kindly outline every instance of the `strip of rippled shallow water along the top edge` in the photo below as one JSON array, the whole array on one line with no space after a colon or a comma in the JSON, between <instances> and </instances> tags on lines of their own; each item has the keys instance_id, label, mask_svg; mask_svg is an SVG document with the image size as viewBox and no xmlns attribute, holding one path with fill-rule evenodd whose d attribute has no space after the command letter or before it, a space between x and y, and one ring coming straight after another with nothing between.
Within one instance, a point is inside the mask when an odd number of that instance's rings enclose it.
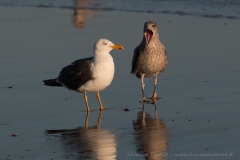
<instances>
[{"instance_id":1,"label":"strip of rippled shallow water along the top edge","mask_svg":"<svg viewBox=\"0 0 240 160\"><path fill-rule=\"evenodd\" d=\"M1 0L0 5L63 8L79 7L93 10L197 15L212 18L227 17L231 19L239 18L240 15L240 2L236 0Z\"/></svg>"}]
</instances>

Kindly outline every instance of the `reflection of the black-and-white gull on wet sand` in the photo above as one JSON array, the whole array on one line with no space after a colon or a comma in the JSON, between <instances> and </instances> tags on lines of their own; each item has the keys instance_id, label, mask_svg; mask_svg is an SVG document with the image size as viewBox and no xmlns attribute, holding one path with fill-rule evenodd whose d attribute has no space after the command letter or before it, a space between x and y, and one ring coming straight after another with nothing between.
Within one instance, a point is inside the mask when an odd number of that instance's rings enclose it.
<instances>
[{"instance_id":1,"label":"reflection of the black-and-white gull on wet sand","mask_svg":"<svg viewBox=\"0 0 240 160\"><path fill-rule=\"evenodd\" d=\"M89 113L84 127L75 129L47 130L47 134L60 134L67 152L77 153L78 159L114 160L117 154L115 135L100 129L102 111L97 126L88 126ZM70 150L70 151L69 151Z\"/></svg>"}]
</instances>

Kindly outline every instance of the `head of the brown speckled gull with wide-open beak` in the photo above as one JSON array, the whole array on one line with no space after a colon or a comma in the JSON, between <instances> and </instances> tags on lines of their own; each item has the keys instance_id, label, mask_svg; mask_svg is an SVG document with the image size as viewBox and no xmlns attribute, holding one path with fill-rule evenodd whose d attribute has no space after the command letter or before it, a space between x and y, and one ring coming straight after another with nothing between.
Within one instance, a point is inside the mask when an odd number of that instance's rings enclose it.
<instances>
[{"instance_id":1,"label":"head of the brown speckled gull with wide-open beak","mask_svg":"<svg viewBox=\"0 0 240 160\"><path fill-rule=\"evenodd\" d=\"M145 22L143 28L143 34L146 42L149 43L153 36L158 37L157 23L153 21Z\"/></svg>"}]
</instances>

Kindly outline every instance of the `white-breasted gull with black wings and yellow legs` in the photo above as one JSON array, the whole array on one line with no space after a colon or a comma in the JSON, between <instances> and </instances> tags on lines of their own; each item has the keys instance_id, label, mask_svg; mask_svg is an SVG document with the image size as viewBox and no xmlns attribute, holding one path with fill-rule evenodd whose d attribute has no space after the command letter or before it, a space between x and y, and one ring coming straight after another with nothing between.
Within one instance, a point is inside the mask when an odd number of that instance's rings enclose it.
<instances>
[{"instance_id":1,"label":"white-breasted gull with black wings and yellow legs","mask_svg":"<svg viewBox=\"0 0 240 160\"><path fill-rule=\"evenodd\" d=\"M70 90L84 93L87 111L87 92L96 92L100 110L103 110L99 91L105 89L113 80L114 62L109 52L112 49L123 50L118 44L107 39L99 39L94 45L93 57L79 59L64 67L58 78L44 80L47 86L64 86Z\"/></svg>"}]
</instances>

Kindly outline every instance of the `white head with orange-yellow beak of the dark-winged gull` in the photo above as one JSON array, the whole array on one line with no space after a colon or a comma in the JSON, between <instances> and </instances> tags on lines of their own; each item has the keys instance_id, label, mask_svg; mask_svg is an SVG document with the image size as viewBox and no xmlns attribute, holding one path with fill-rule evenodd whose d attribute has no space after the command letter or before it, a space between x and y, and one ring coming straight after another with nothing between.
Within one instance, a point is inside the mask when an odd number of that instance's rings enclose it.
<instances>
[{"instance_id":1,"label":"white head with orange-yellow beak of the dark-winged gull","mask_svg":"<svg viewBox=\"0 0 240 160\"><path fill-rule=\"evenodd\" d=\"M123 46L114 44L108 39L99 39L94 45L94 51L96 52L110 52L113 49L123 50Z\"/></svg>"}]
</instances>

